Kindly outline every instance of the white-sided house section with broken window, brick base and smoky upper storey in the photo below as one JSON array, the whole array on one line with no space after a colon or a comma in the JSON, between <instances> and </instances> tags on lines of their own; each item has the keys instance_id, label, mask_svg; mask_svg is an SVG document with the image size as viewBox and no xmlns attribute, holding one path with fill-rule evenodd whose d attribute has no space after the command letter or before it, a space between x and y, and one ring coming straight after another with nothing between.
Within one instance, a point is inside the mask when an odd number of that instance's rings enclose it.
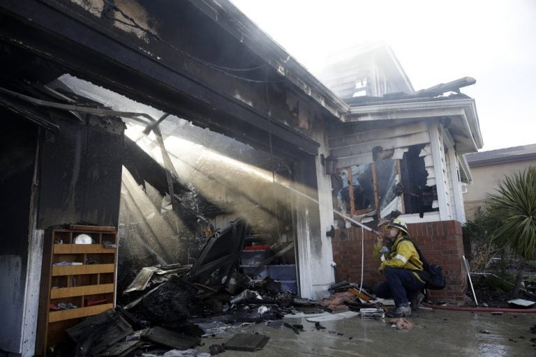
<instances>
[{"instance_id":1,"label":"white-sided house section with broken window, brick base and smoky upper storey","mask_svg":"<svg viewBox=\"0 0 536 357\"><path fill-rule=\"evenodd\" d=\"M380 44L330 65L324 81L350 106L344 121L327 129L334 205L362 221L403 219L426 257L447 272L449 286L435 296L463 302L462 191L471 180L464 154L483 143L475 101L460 89L475 80L415 92L392 50ZM339 226L332 240L337 278L358 281L356 257L368 252L364 279L381 279L370 253L373 235Z\"/></svg>"}]
</instances>

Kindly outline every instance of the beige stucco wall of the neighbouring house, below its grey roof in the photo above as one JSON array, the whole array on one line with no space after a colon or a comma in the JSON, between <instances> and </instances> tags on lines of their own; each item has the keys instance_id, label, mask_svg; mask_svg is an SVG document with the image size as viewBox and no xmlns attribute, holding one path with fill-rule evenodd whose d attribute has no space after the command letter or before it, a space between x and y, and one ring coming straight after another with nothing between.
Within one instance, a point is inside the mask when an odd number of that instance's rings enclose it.
<instances>
[{"instance_id":1,"label":"beige stucco wall of the neighbouring house, below its grey roof","mask_svg":"<svg viewBox=\"0 0 536 357\"><path fill-rule=\"evenodd\" d=\"M486 194L493 193L497 188L497 183L505 175L512 175L531 165L536 166L536 160L493 163L486 166L470 166L473 182L468 186L467 193L463 194L467 219L475 217L475 210L477 207L484 205Z\"/></svg>"}]
</instances>

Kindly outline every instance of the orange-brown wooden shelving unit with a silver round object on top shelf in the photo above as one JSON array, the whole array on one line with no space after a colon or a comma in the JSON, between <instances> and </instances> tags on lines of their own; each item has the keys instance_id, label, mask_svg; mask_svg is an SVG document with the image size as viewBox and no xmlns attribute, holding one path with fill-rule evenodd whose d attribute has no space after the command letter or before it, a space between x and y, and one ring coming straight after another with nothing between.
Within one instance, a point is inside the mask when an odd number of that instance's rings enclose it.
<instances>
[{"instance_id":1,"label":"orange-brown wooden shelving unit with a silver round object on top shelf","mask_svg":"<svg viewBox=\"0 0 536 357\"><path fill-rule=\"evenodd\" d=\"M75 244L80 234L89 235L92 244ZM117 245L115 227L71 225L45 232L36 356L66 340L65 330L81 318L115 306L117 248L104 242ZM57 309L63 304L76 307Z\"/></svg>"}]
</instances>

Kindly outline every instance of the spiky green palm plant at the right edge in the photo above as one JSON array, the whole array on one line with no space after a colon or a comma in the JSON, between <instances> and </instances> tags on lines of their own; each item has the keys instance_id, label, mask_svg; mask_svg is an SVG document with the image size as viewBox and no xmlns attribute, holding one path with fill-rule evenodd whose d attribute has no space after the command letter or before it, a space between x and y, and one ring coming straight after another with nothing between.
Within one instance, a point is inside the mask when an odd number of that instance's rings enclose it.
<instances>
[{"instance_id":1,"label":"spiky green palm plant at the right edge","mask_svg":"<svg viewBox=\"0 0 536 357\"><path fill-rule=\"evenodd\" d=\"M525 262L536 252L536 167L530 166L498 182L487 196L489 218L497 224L491 238L498 247L509 247L518 258L512 296L519 296Z\"/></svg>"}]
</instances>

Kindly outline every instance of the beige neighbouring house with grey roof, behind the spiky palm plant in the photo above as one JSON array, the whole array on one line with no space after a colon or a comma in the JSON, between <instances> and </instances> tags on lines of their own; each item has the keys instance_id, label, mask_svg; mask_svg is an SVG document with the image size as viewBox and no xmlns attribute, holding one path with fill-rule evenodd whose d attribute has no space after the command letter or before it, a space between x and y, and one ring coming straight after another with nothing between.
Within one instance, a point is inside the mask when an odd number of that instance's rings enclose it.
<instances>
[{"instance_id":1,"label":"beige neighbouring house with grey roof, behind the spiky palm plant","mask_svg":"<svg viewBox=\"0 0 536 357\"><path fill-rule=\"evenodd\" d=\"M466 217L473 219L475 210L483 207L486 194L493 194L498 181L536 166L536 144L506 147L505 149L475 152L466 155L471 168L472 183L463 194Z\"/></svg>"}]
</instances>

